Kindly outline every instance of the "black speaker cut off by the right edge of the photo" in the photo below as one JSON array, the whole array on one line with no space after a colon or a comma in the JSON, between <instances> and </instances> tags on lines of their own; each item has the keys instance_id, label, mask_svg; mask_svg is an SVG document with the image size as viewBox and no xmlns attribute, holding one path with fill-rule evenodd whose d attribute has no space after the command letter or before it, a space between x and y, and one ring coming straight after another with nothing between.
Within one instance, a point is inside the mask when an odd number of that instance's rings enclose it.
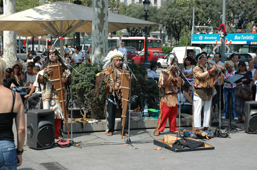
<instances>
[{"instance_id":1,"label":"black speaker cut off by the right edge of the photo","mask_svg":"<svg viewBox=\"0 0 257 170\"><path fill-rule=\"evenodd\" d=\"M244 105L245 132L257 134L257 101L246 101Z\"/></svg>"}]
</instances>

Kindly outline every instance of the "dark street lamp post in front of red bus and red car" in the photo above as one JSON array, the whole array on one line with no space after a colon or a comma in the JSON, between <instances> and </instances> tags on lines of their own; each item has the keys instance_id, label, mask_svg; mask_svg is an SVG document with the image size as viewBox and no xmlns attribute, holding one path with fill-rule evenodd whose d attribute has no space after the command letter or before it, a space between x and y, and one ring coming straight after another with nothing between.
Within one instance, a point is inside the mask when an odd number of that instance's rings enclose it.
<instances>
[{"instance_id":1,"label":"dark street lamp post in front of red bus and red car","mask_svg":"<svg viewBox=\"0 0 257 170\"><path fill-rule=\"evenodd\" d=\"M150 3L151 1L150 0L144 0L143 1L143 6L144 6L144 12L145 12L145 20L147 21L148 20L148 11L149 11L149 7L150 7ZM145 38L144 38L144 62L142 63L142 65L146 68L150 68L150 63L149 63L149 60L148 60L148 27L144 27L144 35L145 35Z\"/></svg>"}]
</instances>

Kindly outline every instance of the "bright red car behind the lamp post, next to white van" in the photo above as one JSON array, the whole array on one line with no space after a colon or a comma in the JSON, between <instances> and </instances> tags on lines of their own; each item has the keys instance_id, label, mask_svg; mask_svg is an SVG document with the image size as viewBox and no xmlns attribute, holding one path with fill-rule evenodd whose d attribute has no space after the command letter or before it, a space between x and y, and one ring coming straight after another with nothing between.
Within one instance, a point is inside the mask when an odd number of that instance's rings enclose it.
<instances>
[{"instance_id":1,"label":"bright red car behind the lamp post, next to white van","mask_svg":"<svg viewBox=\"0 0 257 170\"><path fill-rule=\"evenodd\" d=\"M150 63L157 64L157 60L164 58L165 53L163 51L148 51L148 60ZM132 58L132 62L140 65L144 61L144 51L140 52L138 55Z\"/></svg>"}]
</instances>

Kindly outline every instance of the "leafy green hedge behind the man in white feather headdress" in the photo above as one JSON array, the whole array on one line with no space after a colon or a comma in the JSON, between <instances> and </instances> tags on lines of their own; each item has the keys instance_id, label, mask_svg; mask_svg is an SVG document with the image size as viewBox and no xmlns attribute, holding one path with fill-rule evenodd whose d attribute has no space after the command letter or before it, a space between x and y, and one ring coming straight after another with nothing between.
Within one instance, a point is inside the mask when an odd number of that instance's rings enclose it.
<instances>
[{"instance_id":1,"label":"leafy green hedge behind the man in white feather headdress","mask_svg":"<svg viewBox=\"0 0 257 170\"><path fill-rule=\"evenodd\" d=\"M145 103L148 103L149 108L158 109L158 103L154 101L159 94L156 82L146 78L147 71L144 67L135 63L131 63L129 66L138 79L138 81L135 78L132 79L131 109L135 109L138 105L143 108ZM104 80L100 87L100 95L94 95L96 74L101 72L101 68L102 65L96 64L80 65L76 67L76 70L81 75L78 75L75 71L72 72L72 90L75 102L79 107L84 105L87 115L90 113L90 117L95 119L104 119L106 100Z\"/></svg>"}]
</instances>

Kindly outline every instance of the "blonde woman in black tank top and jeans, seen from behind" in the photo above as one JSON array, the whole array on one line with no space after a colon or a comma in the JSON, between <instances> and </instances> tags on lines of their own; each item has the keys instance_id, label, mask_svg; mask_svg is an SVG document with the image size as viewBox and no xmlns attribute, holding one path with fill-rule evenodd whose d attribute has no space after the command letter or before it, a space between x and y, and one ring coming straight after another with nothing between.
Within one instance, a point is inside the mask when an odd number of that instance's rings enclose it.
<instances>
[{"instance_id":1,"label":"blonde woman in black tank top and jeans, seen from behind","mask_svg":"<svg viewBox=\"0 0 257 170\"><path fill-rule=\"evenodd\" d=\"M3 83L5 62L0 58L0 84ZM16 169L22 164L25 141L25 116L21 96L0 86L0 169ZM13 118L17 130L17 148L12 131Z\"/></svg>"}]
</instances>

